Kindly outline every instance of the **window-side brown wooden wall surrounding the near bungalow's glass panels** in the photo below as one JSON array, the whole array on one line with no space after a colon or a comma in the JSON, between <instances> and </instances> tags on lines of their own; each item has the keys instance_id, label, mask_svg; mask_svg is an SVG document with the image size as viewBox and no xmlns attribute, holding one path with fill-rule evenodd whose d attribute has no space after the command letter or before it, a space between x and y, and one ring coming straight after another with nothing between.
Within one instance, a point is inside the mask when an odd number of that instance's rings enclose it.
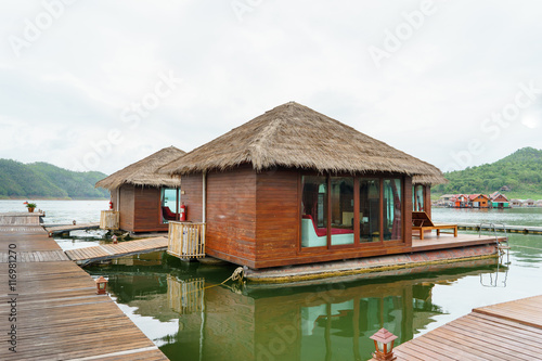
<instances>
[{"instance_id":1,"label":"window-side brown wooden wall surrounding the near bungalow's glass panels","mask_svg":"<svg viewBox=\"0 0 542 361\"><path fill-rule=\"evenodd\" d=\"M403 178L402 205L404 241L382 244L301 248L300 246L300 172L279 169L257 175L256 261L251 268L323 262L410 252L412 245L412 182Z\"/></svg>"}]
</instances>

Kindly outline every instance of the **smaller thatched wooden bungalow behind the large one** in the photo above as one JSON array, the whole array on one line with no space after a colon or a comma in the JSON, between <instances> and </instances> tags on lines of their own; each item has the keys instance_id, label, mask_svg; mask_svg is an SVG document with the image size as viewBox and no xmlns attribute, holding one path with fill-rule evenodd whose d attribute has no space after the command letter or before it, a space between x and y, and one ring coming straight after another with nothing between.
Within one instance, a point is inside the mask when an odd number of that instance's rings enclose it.
<instances>
[{"instance_id":1,"label":"smaller thatched wooden bungalow behind the large one","mask_svg":"<svg viewBox=\"0 0 542 361\"><path fill-rule=\"evenodd\" d=\"M179 219L181 180L158 175L156 169L182 155L175 146L163 149L95 184L109 190L121 230L167 231L168 221Z\"/></svg>"}]
</instances>

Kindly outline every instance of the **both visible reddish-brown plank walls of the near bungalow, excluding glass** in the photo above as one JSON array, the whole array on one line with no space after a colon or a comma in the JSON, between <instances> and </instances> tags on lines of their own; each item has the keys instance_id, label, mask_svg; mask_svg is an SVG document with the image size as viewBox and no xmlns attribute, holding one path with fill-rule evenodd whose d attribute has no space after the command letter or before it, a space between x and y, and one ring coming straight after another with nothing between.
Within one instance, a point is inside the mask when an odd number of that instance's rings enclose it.
<instances>
[{"instance_id":1,"label":"both visible reddish-brown plank walls of the near bungalow, excluding glass","mask_svg":"<svg viewBox=\"0 0 542 361\"><path fill-rule=\"evenodd\" d=\"M412 245L412 182L403 178L403 241L301 248L300 171L243 166L207 175L206 253L250 268L406 253ZM384 176L384 175L383 175ZM389 176L389 175L388 175ZM397 177L397 176L395 176ZM202 221L202 175L183 177L188 220Z\"/></svg>"}]
</instances>

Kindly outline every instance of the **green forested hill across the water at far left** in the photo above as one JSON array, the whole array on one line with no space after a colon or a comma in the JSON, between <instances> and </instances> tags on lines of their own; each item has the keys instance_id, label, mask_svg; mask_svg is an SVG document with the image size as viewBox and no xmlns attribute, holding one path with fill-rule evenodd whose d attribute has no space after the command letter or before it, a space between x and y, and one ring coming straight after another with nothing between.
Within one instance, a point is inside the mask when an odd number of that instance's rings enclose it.
<instances>
[{"instance_id":1,"label":"green forested hill across the water at far left","mask_svg":"<svg viewBox=\"0 0 542 361\"><path fill-rule=\"evenodd\" d=\"M108 191L94 189L105 177L99 171L78 172L48 163L0 158L0 198L108 198Z\"/></svg>"}]
</instances>

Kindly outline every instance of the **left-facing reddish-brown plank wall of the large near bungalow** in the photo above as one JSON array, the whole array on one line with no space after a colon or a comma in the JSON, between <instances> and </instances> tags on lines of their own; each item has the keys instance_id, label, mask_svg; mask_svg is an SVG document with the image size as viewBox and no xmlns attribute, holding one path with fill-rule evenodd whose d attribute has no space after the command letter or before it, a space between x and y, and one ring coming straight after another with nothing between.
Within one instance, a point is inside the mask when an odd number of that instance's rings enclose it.
<instances>
[{"instance_id":1,"label":"left-facing reddish-brown plank wall of the large near bungalow","mask_svg":"<svg viewBox=\"0 0 542 361\"><path fill-rule=\"evenodd\" d=\"M256 172L251 168L207 175L205 238L208 255L255 267Z\"/></svg>"}]
</instances>

